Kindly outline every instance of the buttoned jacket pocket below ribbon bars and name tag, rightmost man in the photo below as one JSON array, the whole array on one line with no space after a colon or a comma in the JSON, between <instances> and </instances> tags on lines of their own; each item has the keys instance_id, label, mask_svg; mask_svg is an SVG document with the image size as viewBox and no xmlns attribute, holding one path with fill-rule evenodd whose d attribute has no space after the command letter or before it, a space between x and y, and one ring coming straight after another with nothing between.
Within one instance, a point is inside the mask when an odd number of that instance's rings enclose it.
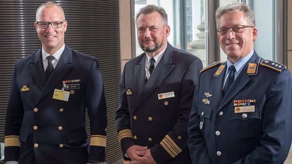
<instances>
[{"instance_id":1,"label":"buttoned jacket pocket below ribbon bars and name tag, rightmost man","mask_svg":"<svg viewBox=\"0 0 292 164\"><path fill-rule=\"evenodd\" d=\"M230 110L230 133L234 142L256 140L261 132L261 106L255 106L254 112L235 113Z\"/></svg>"}]
</instances>

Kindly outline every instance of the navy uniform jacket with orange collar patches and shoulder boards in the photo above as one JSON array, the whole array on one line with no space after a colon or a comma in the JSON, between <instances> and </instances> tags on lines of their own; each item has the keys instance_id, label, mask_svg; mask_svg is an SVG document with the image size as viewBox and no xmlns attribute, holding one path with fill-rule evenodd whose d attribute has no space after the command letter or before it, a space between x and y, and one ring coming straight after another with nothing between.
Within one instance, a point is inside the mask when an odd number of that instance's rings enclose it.
<instances>
[{"instance_id":1,"label":"navy uniform jacket with orange collar patches and shoulder boards","mask_svg":"<svg viewBox=\"0 0 292 164\"><path fill-rule=\"evenodd\" d=\"M283 164L292 141L291 73L255 52L223 97L225 64L202 70L188 124L192 163Z\"/></svg>"}]
</instances>

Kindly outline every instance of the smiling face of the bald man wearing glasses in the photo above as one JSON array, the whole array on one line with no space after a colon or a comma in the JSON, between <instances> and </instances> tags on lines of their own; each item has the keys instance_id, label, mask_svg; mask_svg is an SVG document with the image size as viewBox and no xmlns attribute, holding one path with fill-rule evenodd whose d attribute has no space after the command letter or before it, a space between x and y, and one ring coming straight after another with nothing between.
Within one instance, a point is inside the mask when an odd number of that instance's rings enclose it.
<instances>
[{"instance_id":1,"label":"smiling face of the bald man wearing glasses","mask_svg":"<svg viewBox=\"0 0 292 164\"><path fill-rule=\"evenodd\" d=\"M63 21L63 12L54 5L44 6L39 10L37 21ZM48 28L42 29L35 22L37 35L42 43L44 50L49 54L54 54L64 45L65 31L67 30L67 21L64 21L61 28L54 29L50 24Z\"/></svg>"}]
</instances>

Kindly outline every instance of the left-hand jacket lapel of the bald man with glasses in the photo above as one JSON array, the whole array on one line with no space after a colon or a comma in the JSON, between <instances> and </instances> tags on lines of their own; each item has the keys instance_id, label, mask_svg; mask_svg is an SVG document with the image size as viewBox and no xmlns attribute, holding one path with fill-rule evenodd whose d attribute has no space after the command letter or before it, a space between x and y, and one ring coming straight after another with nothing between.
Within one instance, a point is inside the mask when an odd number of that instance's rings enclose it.
<instances>
[{"instance_id":1,"label":"left-hand jacket lapel of the bald man with glasses","mask_svg":"<svg viewBox=\"0 0 292 164\"><path fill-rule=\"evenodd\" d=\"M27 64L27 67L33 79L37 83L38 88L43 91L47 83L47 77L42 62L41 49L33 55L31 61Z\"/></svg>"}]
</instances>

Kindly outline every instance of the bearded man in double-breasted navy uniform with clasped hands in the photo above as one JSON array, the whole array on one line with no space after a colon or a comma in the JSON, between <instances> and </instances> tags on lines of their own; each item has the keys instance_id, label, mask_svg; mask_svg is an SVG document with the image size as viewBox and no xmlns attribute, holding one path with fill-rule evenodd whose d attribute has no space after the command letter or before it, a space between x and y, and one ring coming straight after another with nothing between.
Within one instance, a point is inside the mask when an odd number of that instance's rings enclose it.
<instances>
[{"instance_id":1,"label":"bearded man in double-breasted navy uniform with clasped hands","mask_svg":"<svg viewBox=\"0 0 292 164\"><path fill-rule=\"evenodd\" d=\"M115 121L130 164L191 164L186 146L192 98L201 60L167 42L163 8L147 5L136 15L145 53L126 63Z\"/></svg>"}]
</instances>

